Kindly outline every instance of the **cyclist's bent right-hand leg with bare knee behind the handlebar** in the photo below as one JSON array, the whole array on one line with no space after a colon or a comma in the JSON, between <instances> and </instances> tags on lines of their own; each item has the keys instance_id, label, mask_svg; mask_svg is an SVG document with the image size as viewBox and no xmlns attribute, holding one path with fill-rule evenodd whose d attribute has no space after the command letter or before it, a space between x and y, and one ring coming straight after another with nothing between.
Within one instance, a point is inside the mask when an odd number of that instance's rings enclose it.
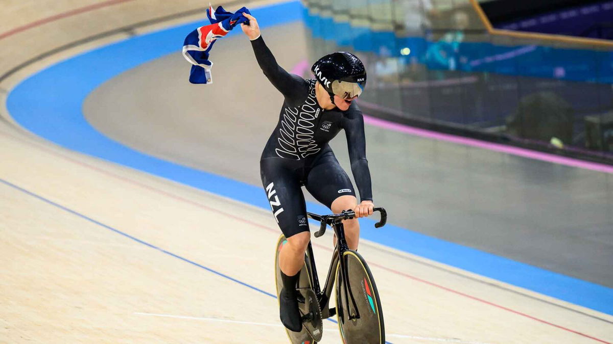
<instances>
[{"instance_id":1,"label":"cyclist's bent right-hand leg with bare knee behind the handlebar","mask_svg":"<svg viewBox=\"0 0 613 344\"><path fill-rule=\"evenodd\" d=\"M335 214L355 209L356 192L351 179L338 163L332 151L322 153L314 162L307 176L307 190L316 200L330 208ZM357 219L343 221L349 249L357 250L360 224ZM335 238L336 244L336 238Z\"/></svg>"}]
</instances>

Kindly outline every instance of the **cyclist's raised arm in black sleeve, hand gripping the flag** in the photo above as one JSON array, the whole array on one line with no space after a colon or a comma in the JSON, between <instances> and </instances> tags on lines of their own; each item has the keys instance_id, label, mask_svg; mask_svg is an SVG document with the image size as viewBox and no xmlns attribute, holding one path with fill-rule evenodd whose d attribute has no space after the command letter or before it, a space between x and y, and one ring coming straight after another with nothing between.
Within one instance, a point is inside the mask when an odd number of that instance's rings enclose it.
<instances>
[{"instance_id":1,"label":"cyclist's raised arm in black sleeve, hand gripping the flag","mask_svg":"<svg viewBox=\"0 0 613 344\"><path fill-rule=\"evenodd\" d=\"M264 75L270 80L270 83L281 92L286 98L295 99L295 97L306 96L305 89L308 89L307 81L298 75L287 73L275 59L270 49L264 43L260 33L257 20L252 15L243 13L249 18L249 25L241 24L243 32L251 40L251 46L256 54L257 63L260 65ZM303 99L296 99L302 102Z\"/></svg>"}]
</instances>

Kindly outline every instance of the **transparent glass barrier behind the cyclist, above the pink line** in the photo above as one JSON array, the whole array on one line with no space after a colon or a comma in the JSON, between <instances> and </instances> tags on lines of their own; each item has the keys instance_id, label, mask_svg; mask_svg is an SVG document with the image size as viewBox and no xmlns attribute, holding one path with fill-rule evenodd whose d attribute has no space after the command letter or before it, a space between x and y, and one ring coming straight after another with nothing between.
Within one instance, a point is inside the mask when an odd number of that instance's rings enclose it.
<instances>
[{"instance_id":1,"label":"transparent glass barrier behind the cyclist, above the pink line","mask_svg":"<svg viewBox=\"0 0 613 344\"><path fill-rule=\"evenodd\" d=\"M311 60L362 59L371 114L613 163L613 45L489 31L470 0L304 4Z\"/></svg>"}]
</instances>

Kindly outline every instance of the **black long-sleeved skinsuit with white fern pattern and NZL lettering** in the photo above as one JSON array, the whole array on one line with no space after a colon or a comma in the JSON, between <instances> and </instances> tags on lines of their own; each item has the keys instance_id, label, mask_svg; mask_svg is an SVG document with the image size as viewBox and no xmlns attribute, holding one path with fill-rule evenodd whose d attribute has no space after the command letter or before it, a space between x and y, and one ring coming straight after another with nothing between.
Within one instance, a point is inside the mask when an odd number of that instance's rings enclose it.
<instances>
[{"instance_id":1,"label":"black long-sleeved skinsuit with white fern pattern and NZL lettering","mask_svg":"<svg viewBox=\"0 0 613 344\"><path fill-rule=\"evenodd\" d=\"M347 136L351 171L361 200L372 200L364 118L357 104L352 102L347 111L322 109L315 97L315 80L287 73L262 37L252 40L251 45L264 75L285 97L279 122L260 160L262 184L283 234L290 237L309 230L302 185L328 208L338 196L356 195L328 145L341 129Z\"/></svg>"}]
</instances>

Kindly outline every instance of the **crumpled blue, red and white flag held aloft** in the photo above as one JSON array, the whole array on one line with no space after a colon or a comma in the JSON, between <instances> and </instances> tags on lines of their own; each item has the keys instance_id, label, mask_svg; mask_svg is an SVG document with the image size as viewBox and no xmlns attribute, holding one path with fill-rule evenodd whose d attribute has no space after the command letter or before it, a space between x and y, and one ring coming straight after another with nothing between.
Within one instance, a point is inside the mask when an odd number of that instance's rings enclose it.
<instances>
[{"instance_id":1,"label":"crumpled blue, red and white flag held aloft","mask_svg":"<svg viewBox=\"0 0 613 344\"><path fill-rule=\"evenodd\" d=\"M213 12L213 7L209 6L207 17L211 24L200 26L200 28L190 32L188 37L185 37L183 57L192 64L191 73L189 73L190 83L213 83L211 78L213 62L208 61L208 54L211 48L213 48L213 43L215 43L216 39L226 36L238 24L249 23L249 20L243 13L251 14L246 7L242 7L236 13L232 13L227 12L221 6L217 7L215 12Z\"/></svg>"}]
</instances>

